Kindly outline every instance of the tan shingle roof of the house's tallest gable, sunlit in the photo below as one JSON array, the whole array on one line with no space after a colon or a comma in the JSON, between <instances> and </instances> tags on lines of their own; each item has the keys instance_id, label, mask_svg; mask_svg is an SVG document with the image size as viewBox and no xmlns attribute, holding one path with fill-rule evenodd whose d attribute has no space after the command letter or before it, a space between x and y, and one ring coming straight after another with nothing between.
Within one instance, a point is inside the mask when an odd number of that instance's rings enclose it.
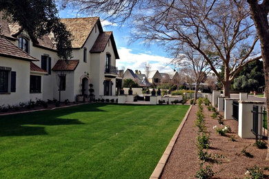
<instances>
[{"instance_id":1,"label":"tan shingle roof of the house's tallest gable, sunlit","mask_svg":"<svg viewBox=\"0 0 269 179\"><path fill-rule=\"evenodd\" d=\"M61 22L66 25L67 30L74 36L72 48L83 47L97 21L99 21L99 17L61 19Z\"/></svg>"}]
</instances>

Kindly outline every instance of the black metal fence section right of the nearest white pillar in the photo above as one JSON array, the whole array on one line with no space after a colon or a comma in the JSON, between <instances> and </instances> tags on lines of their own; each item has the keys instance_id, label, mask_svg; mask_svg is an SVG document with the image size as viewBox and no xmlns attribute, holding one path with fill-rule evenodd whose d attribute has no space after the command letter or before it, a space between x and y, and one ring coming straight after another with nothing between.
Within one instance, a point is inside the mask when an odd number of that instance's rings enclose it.
<instances>
[{"instance_id":1,"label":"black metal fence section right of the nearest white pillar","mask_svg":"<svg viewBox=\"0 0 269 179\"><path fill-rule=\"evenodd\" d=\"M253 106L252 109L252 133L256 136L256 141L261 138L267 138L267 113L266 107L259 107L257 105ZM259 115L260 114L260 115Z\"/></svg>"}]
</instances>

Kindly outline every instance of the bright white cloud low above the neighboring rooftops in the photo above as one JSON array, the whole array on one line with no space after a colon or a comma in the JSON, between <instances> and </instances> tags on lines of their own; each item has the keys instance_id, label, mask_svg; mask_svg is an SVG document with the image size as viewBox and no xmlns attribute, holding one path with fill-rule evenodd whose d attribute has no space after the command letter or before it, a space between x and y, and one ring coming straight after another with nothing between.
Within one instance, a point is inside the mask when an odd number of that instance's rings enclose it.
<instances>
[{"instance_id":1,"label":"bright white cloud low above the neighboring rooftops","mask_svg":"<svg viewBox=\"0 0 269 179\"><path fill-rule=\"evenodd\" d=\"M170 63L172 59L153 54L133 54L132 50L128 48L119 48L118 52L120 59L117 60L117 67L119 67L119 69L125 67L125 70L129 68L133 71L140 70L144 73L145 64L149 63L151 66L150 70L159 70L159 72L173 71L172 68L168 66L168 63Z\"/></svg>"}]
</instances>

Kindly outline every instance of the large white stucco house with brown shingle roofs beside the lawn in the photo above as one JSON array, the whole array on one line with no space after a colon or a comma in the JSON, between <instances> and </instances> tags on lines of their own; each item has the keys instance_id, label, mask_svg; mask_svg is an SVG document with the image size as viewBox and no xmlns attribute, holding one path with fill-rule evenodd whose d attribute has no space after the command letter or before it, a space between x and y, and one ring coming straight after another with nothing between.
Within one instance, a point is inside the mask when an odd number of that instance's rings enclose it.
<instances>
[{"instance_id":1,"label":"large white stucco house with brown shingle roofs beside the lawn","mask_svg":"<svg viewBox=\"0 0 269 179\"><path fill-rule=\"evenodd\" d=\"M61 21L74 36L68 61L59 60L53 36L34 42L17 23L0 18L0 105L59 99L59 88L61 101L75 101L77 95L89 94L89 84L95 98L116 95L119 54L112 32L103 31L99 17Z\"/></svg>"}]
</instances>

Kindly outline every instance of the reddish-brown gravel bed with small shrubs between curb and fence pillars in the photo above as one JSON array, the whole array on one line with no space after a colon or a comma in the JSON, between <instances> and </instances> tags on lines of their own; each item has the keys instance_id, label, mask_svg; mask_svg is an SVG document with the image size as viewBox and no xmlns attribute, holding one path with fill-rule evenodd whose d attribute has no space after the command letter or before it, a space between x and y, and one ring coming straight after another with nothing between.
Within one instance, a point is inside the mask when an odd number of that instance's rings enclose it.
<instances>
[{"instance_id":1,"label":"reddish-brown gravel bed with small shrubs between curb and fence pillars","mask_svg":"<svg viewBox=\"0 0 269 179\"><path fill-rule=\"evenodd\" d=\"M195 127L197 105L192 107L181 133L175 143L174 148L166 166L163 169L161 178L195 178L196 171L199 170L199 160L197 158L197 148L195 146L197 137L197 127ZM210 132L210 149L208 153L222 155L225 158L217 159L221 164L213 163L212 170L215 172L214 178L244 178L247 167L269 167L266 159L267 149L257 149L253 146L255 140L243 139L237 135L238 122L236 120L224 120L224 125L232 128L232 133L227 136L220 136L213 126L218 124L217 119L210 118L212 112L208 112L206 106L203 107L205 114L207 131ZM229 140L229 136L235 136L236 142ZM243 147L254 157L248 158L241 153ZM265 171L269 174L268 171Z\"/></svg>"}]
</instances>

